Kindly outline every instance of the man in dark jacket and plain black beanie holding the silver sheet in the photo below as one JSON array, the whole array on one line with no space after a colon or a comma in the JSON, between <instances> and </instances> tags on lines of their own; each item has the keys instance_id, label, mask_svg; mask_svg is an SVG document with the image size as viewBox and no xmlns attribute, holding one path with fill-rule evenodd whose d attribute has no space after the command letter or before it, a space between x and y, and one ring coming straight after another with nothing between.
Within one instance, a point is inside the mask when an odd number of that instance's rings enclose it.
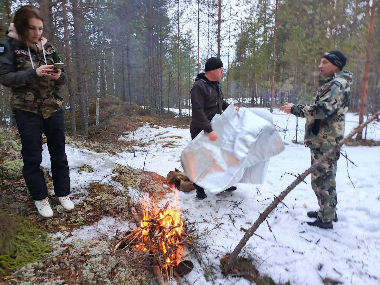
<instances>
[{"instance_id":1,"label":"man in dark jacket and plain black beanie holding the silver sheet","mask_svg":"<svg viewBox=\"0 0 380 285\"><path fill-rule=\"evenodd\" d=\"M210 141L217 140L217 134L212 130L211 120L215 114L222 114L230 105L223 100L222 89L219 80L223 76L223 62L218 57L210 57L204 66L204 71L199 73L190 91L192 102L192 121L190 135L194 139L204 130ZM239 107L236 107L239 110ZM194 184L198 199L206 198L204 189ZM230 187L226 191L236 190Z\"/></svg>"}]
</instances>

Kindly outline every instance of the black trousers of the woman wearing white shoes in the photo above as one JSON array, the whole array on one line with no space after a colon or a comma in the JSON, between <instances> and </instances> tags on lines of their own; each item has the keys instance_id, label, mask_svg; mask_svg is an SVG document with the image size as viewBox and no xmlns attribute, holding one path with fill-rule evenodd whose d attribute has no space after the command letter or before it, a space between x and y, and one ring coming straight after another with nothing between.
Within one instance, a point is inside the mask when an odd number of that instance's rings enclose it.
<instances>
[{"instance_id":1,"label":"black trousers of the woman wearing white shoes","mask_svg":"<svg viewBox=\"0 0 380 285\"><path fill-rule=\"evenodd\" d=\"M46 136L49 149L51 171L55 196L70 194L70 170L65 154L65 125L62 109L51 117L14 109L17 128L22 143L22 174L33 200L47 197L44 173L40 169L42 162L42 133Z\"/></svg>"}]
</instances>

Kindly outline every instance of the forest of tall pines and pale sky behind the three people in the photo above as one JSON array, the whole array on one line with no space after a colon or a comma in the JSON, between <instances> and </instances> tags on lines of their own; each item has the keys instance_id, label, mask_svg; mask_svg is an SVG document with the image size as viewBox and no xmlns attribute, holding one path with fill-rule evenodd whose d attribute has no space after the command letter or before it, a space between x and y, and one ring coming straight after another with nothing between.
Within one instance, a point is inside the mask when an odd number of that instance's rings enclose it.
<instances>
[{"instance_id":1,"label":"forest of tall pines and pale sky behind the three people","mask_svg":"<svg viewBox=\"0 0 380 285\"><path fill-rule=\"evenodd\" d=\"M211 56L226 67L226 99L271 109L311 103L323 82L320 57L335 49L347 55L344 69L355 77L350 111L361 111L363 120L380 109L377 2L0 0L0 41L19 6L40 10L44 36L66 65L65 112L73 136L88 138L91 119L101 123L102 97L149 107L158 116L176 108L182 117L191 108L194 78ZM1 86L0 122L8 125L14 124L10 96Z\"/></svg>"}]
</instances>

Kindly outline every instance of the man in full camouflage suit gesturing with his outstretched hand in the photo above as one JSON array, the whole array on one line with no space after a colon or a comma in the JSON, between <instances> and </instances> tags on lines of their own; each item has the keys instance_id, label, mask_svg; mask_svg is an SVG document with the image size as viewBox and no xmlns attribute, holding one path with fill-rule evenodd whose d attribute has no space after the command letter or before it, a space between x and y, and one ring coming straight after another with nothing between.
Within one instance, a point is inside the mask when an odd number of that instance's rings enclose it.
<instances>
[{"instance_id":1,"label":"man in full camouflage suit gesturing with his outstretched hand","mask_svg":"<svg viewBox=\"0 0 380 285\"><path fill-rule=\"evenodd\" d=\"M287 103L280 108L285 113L307 119L304 144L310 148L312 164L336 146L344 136L350 85L353 82L352 73L342 71L346 60L340 51L326 52L318 66L320 74L326 80L318 89L314 103L312 105ZM337 221L335 176L339 155L338 151L326 161L322 161L311 174L312 188L317 196L320 210L307 213L309 217L317 218L314 222L308 222L309 225L333 228L332 221Z\"/></svg>"}]
</instances>

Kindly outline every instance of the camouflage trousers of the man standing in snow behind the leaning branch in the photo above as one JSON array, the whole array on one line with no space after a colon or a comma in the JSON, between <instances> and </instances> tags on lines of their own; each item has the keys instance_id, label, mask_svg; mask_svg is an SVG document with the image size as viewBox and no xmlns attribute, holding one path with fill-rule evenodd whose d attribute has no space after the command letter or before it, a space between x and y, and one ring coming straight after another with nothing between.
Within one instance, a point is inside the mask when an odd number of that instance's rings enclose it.
<instances>
[{"instance_id":1,"label":"camouflage trousers of the man standing in snow behind the leaning branch","mask_svg":"<svg viewBox=\"0 0 380 285\"><path fill-rule=\"evenodd\" d=\"M328 150L325 149L310 149L311 152L311 164L320 159ZM336 195L336 170L337 161L339 159L340 152L334 152L334 154L322 161L320 165L311 173L311 187L314 190L318 199L319 211L318 218L328 223L335 217L337 195Z\"/></svg>"}]
</instances>

